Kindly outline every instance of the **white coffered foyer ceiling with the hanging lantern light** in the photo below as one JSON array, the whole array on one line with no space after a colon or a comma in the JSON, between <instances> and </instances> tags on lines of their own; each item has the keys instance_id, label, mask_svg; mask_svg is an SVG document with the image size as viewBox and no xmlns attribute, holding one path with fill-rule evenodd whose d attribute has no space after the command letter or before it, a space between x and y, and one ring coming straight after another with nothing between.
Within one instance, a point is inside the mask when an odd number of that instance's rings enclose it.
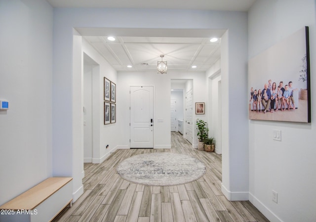
<instances>
[{"instance_id":1,"label":"white coffered foyer ceiling with the hanging lantern light","mask_svg":"<svg viewBox=\"0 0 316 222\"><path fill-rule=\"evenodd\" d=\"M117 71L156 71L160 55L164 55L168 71L206 71L220 58L220 38L217 42L198 37L84 38Z\"/></svg>"}]
</instances>

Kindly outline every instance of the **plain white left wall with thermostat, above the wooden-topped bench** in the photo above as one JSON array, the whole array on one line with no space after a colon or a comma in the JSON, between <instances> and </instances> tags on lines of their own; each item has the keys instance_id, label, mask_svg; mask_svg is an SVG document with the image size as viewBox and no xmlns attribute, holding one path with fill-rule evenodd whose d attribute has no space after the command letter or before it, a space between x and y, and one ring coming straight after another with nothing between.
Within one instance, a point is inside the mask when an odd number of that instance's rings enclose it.
<instances>
[{"instance_id":1,"label":"plain white left wall with thermostat, above the wooden-topped bench","mask_svg":"<svg viewBox=\"0 0 316 222\"><path fill-rule=\"evenodd\" d=\"M0 205L52 175L53 9L0 1Z\"/></svg>"}]
</instances>

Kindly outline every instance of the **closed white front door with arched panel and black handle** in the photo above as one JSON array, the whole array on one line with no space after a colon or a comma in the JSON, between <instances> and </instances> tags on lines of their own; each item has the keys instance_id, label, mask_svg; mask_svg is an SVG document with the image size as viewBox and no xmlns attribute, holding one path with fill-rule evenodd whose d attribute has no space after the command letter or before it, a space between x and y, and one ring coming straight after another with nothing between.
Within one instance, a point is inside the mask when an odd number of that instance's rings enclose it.
<instances>
[{"instance_id":1,"label":"closed white front door with arched panel and black handle","mask_svg":"<svg viewBox=\"0 0 316 222\"><path fill-rule=\"evenodd\" d=\"M130 87L130 148L154 148L154 87Z\"/></svg>"}]
</instances>

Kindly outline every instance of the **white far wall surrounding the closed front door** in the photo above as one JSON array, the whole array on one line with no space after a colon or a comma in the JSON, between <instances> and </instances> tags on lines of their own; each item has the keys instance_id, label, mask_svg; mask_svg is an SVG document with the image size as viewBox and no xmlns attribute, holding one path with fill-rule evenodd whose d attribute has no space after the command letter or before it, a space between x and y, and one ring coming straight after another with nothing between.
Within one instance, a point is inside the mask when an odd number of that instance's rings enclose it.
<instances>
[{"instance_id":1,"label":"white far wall surrounding the closed front door","mask_svg":"<svg viewBox=\"0 0 316 222\"><path fill-rule=\"evenodd\" d=\"M168 72L166 75L159 75L157 72L119 72L117 114L121 121L118 123L120 129L119 148L129 148L129 87L130 86L154 86L154 148L171 148L170 137L170 81L171 79L193 79L191 88L194 88L194 104L198 101L205 101L206 84L204 73L177 73ZM204 115L203 115L204 116ZM158 122L162 119L163 122ZM195 119L195 117L194 117ZM127 135L127 136L124 136ZM196 135L194 135L196 138Z\"/></svg>"}]
</instances>

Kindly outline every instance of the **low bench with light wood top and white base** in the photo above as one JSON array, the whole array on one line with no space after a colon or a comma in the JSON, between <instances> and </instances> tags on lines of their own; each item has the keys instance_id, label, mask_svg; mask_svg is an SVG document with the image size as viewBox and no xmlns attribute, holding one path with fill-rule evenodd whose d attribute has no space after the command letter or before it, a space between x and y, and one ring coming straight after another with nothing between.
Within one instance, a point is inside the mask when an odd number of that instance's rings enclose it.
<instances>
[{"instance_id":1,"label":"low bench with light wood top and white base","mask_svg":"<svg viewBox=\"0 0 316 222\"><path fill-rule=\"evenodd\" d=\"M73 200L73 178L51 177L0 206L0 222L52 221Z\"/></svg>"}]
</instances>

